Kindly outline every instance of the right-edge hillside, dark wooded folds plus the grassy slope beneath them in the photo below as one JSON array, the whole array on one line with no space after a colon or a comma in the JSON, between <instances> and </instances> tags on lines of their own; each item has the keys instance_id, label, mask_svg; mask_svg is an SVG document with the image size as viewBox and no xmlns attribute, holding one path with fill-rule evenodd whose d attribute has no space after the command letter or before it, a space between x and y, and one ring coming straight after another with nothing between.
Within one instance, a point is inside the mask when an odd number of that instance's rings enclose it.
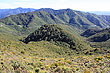
<instances>
[{"instance_id":1,"label":"right-edge hillside, dark wooded folds plus the grassy slope beneath them","mask_svg":"<svg viewBox=\"0 0 110 73\"><path fill-rule=\"evenodd\" d=\"M110 28L88 29L81 34L95 48L110 48Z\"/></svg>"}]
</instances>

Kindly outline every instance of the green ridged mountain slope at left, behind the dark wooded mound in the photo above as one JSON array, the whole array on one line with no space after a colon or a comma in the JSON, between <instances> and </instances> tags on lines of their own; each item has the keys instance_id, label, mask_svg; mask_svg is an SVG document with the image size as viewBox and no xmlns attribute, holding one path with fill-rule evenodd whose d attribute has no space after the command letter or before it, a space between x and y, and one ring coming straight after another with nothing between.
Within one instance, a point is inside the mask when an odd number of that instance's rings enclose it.
<instances>
[{"instance_id":1,"label":"green ridged mountain slope at left, behind the dark wooded mound","mask_svg":"<svg viewBox=\"0 0 110 73\"><path fill-rule=\"evenodd\" d=\"M44 11L12 15L1 19L0 22L1 25L5 24L5 26L15 29L21 33L28 33L28 31L32 32L43 24L64 23L53 14L48 14Z\"/></svg>"}]
</instances>

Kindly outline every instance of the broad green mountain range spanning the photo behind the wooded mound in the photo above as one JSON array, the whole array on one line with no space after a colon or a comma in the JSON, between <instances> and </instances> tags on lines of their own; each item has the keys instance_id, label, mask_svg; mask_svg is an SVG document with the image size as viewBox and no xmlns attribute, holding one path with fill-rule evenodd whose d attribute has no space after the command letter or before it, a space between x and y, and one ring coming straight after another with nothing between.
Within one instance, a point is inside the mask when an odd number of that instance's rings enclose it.
<instances>
[{"instance_id":1,"label":"broad green mountain range spanning the photo behind the wooded mound","mask_svg":"<svg viewBox=\"0 0 110 73\"><path fill-rule=\"evenodd\" d=\"M19 8L18 8L19 9ZM29 9L30 10L30 9ZM0 20L1 31L28 33L43 24L64 24L80 30L88 28L109 28L110 16L101 16L72 9L54 10L50 8L38 9L34 12L11 15ZM26 31L26 32L25 32Z\"/></svg>"}]
</instances>

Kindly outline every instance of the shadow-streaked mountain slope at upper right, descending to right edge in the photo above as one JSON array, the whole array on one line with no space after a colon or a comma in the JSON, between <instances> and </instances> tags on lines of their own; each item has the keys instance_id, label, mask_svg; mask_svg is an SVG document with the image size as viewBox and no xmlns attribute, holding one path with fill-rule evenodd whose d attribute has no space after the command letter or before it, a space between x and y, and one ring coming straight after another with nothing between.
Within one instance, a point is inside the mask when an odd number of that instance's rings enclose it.
<instances>
[{"instance_id":1,"label":"shadow-streaked mountain slope at upper right, descending to right edge","mask_svg":"<svg viewBox=\"0 0 110 73\"><path fill-rule=\"evenodd\" d=\"M79 24L79 25L91 25L92 27L106 27L105 25L109 25L109 22L104 19L104 15L96 15L92 13L85 13L81 11L75 11L72 9L61 9L61 10L53 10L53 9L45 9L42 8L37 11L45 11L48 13L53 13L58 18L69 24ZM101 19L102 18L102 19ZM66 20L65 20L66 19ZM105 23L106 21L106 23Z\"/></svg>"}]
</instances>

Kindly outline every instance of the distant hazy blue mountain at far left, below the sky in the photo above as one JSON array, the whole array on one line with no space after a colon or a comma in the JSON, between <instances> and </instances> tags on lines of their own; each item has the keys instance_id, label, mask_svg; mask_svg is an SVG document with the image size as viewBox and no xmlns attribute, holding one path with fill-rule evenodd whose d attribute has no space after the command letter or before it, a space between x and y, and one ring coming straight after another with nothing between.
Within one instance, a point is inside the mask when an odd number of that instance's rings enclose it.
<instances>
[{"instance_id":1,"label":"distant hazy blue mountain at far left, below the sky","mask_svg":"<svg viewBox=\"0 0 110 73\"><path fill-rule=\"evenodd\" d=\"M8 17L10 15L16 15L19 13L27 13L35 11L33 8L16 8L16 9L0 9L0 18Z\"/></svg>"}]
</instances>

